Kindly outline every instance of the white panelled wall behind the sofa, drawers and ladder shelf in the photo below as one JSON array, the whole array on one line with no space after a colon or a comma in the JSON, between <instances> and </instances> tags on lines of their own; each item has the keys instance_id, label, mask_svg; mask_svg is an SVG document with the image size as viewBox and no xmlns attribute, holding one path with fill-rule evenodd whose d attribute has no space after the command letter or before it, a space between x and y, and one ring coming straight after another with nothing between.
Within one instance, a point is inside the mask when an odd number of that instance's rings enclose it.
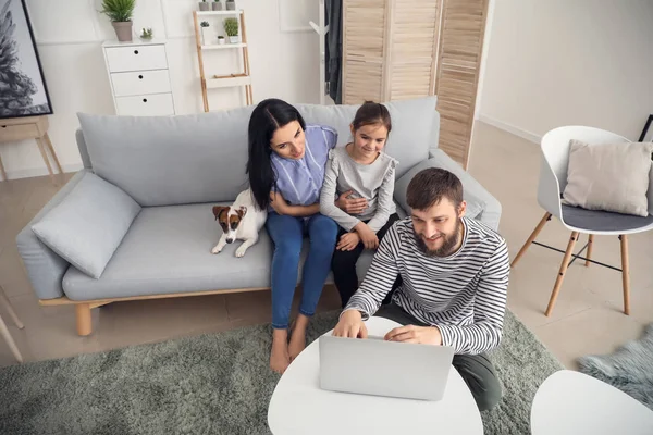
<instances>
[{"instance_id":1,"label":"white panelled wall behind the sofa, drawers and ladder shelf","mask_svg":"<svg viewBox=\"0 0 653 435\"><path fill-rule=\"evenodd\" d=\"M54 109L50 116L50 137L64 171L81 167L74 138L78 126L76 113L114 113L100 45L106 39L114 39L115 35L109 20L97 12L100 4L101 0L27 0ZM307 16L317 16L317 1L237 0L236 4L246 14L255 102L276 97L295 103L318 103L318 36L312 30L285 32ZM289 7L294 9L284 13ZM178 114L202 111L190 14L194 9L197 9L194 0L137 0L134 14L135 29L152 27L155 37L168 39ZM232 61L219 55L232 55L233 59L237 53L218 53L215 58L211 52L207 57L212 57L209 63L213 62L219 69L220 63ZM207 70L207 73L212 74L212 71ZM236 89L209 92L211 110L244 103ZM33 140L3 144L0 152L10 178L47 173Z\"/></svg>"}]
</instances>

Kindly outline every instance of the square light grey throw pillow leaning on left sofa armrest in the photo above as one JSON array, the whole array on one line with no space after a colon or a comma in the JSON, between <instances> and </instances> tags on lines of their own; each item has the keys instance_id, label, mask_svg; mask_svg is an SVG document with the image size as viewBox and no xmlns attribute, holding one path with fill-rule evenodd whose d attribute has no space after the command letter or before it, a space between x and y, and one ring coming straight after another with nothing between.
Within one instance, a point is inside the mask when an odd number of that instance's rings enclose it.
<instances>
[{"instance_id":1,"label":"square light grey throw pillow leaning on left sofa armrest","mask_svg":"<svg viewBox=\"0 0 653 435\"><path fill-rule=\"evenodd\" d=\"M89 173L32 229L60 257L99 278L139 211L128 195Z\"/></svg>"}]
</instances>

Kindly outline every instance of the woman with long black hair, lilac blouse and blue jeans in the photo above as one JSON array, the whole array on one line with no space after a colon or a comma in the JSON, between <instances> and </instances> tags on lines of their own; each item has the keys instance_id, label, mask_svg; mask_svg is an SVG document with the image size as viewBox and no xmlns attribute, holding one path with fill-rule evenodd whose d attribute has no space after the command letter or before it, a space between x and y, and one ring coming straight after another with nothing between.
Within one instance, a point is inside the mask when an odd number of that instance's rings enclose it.
<instances>
[{"instance_id":1,"label":"woman with long black hair, lilac blouse and blue jeans","mask_svg":"<svg viewBox=\"0 0 653 435\"><path fill-rule=\"evenodd\" d=\"M270 368L283 373L306 346L306 327L331 268L337 224L320 214L320 189L337 134L329 127L307 126L297 109L269 99L251 113L248 136L249 185L257 206L268 210L266 227L274 241ZM304 293L288 344L288 319L305 235L310 248L304 264Z\"/></svg>"}]
</instances>

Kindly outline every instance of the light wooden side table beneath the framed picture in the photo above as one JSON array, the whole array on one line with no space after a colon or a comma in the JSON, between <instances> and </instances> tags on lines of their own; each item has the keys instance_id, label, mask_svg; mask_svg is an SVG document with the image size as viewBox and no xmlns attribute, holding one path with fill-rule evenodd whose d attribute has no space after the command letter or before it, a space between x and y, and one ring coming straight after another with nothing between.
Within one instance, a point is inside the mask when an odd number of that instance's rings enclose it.
<instances>
[{"instance_id":1,"label":"light wooden side table beneath the framed picture","mask_svg":"<svg viewBox=\"0 0 653 435\"><path fill-rule=\"evenodd\" d=\"M12 142L24 139L36 139L38 150L44 158L44 162L46 162L46 166L48 166L50 179L52 179L53 184L57 184L54 174L52 173L52 166L50 165L50 159L48 158L48 150L50 151L50 154L52 156L54 164L57 165L57 170L60 174L63 174L63 170L61 169L61 164L59 163L54 148L52 148L50 136L48 136L48 117L26 116L0 121L0 142ZM4 172L4 165L2 164L1 157L0 173L2 174L2 179L5 181L7 173Z\"/></svg>"}]
</instances>

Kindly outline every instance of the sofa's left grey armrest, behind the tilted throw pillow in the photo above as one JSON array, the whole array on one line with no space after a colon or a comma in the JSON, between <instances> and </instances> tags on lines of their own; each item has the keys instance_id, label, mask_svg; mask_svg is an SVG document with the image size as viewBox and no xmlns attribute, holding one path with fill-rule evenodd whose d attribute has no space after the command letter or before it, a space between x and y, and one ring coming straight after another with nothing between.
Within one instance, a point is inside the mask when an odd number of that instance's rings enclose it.
<instances>
[{"instance_id":1,"label":"sofa's left grey armrest, behind the tilted throw pillow","mask_svg":"<svg viewBox=\"0 0 653 435\"><path fill-rule=\"evenodd\" d=\"M27 271L32 288L39 299L56 299L63 296L61 282L70 264L36 237L32 225L59 204L89 172L82 170L75 174L16 236L19 253Z\"/></svg>"}]
</instances>

